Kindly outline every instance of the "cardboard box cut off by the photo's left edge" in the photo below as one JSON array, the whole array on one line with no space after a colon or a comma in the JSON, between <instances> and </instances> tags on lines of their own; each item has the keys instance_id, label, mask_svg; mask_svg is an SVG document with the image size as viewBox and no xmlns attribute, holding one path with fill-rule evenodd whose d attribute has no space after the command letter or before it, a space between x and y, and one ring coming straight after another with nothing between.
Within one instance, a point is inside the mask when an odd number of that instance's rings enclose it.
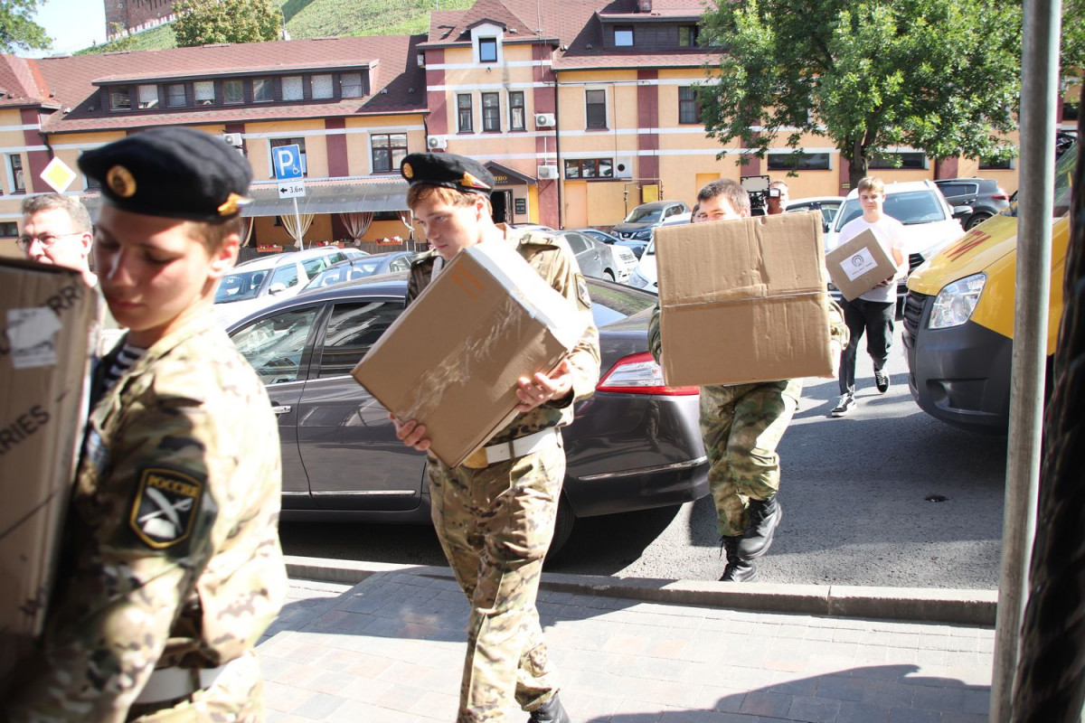
<instances>
[{"instance_id":1,"label":"cardboard box cut off by the photo's left edge","mask_svg":"<svg viewBox=\"0 0 1085 723\"><path fill-rule=\"evenodd\" d=\"M41 632L87 417L97 309L78 272L0 260L0 677Z\"/></svg>"}]
</instances>

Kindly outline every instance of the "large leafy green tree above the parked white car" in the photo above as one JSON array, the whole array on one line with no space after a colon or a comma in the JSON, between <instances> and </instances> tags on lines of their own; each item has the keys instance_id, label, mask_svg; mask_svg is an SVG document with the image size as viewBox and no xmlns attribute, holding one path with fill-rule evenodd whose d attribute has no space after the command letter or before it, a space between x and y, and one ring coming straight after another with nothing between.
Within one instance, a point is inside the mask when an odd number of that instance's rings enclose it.
<instances>
[{"instance_id":1,"label":"large leafy green tree above the parked white car","mask_svg":"<svg viewBox=\"0 0 1085 723\"><path fill-rule=\"evenodd\" d=\"M710 137L764 157L778 137L830 139L854 188L893 146L935 160L1005 157L1020 87L1021 9L999 0L733 0L705 14L723 49L699 96ZM743 158L742 160L745 160Z\"/></svg>"}]
</instances>

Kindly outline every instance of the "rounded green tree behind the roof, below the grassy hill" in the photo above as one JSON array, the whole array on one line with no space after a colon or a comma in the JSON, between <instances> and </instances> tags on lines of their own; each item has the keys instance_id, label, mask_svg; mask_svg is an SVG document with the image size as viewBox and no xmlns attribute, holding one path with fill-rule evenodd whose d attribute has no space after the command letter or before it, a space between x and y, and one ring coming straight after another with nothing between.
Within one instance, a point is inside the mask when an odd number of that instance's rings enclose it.
<instances>
[{"instance_id":1,"label":"rounded green tree behind the roof, below the grassy hill","mask_svg":"<svg viewBox=\"0 0 1085 723\"><path fill-rule=\"evenodd\" d=\"M278 40L282 11L272 0L183 0L175 5L180 47Z\"/></svg>"}]
</instances>

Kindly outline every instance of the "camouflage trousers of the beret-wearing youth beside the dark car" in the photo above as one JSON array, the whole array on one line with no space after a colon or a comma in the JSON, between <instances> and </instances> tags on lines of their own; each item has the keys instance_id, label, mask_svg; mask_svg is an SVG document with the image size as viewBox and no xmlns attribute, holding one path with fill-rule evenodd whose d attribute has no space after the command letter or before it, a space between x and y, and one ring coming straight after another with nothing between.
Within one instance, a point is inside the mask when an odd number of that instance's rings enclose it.
<instances>
[{"instance_id":1,"label":"camouflage trousers of the beret-wearing youth beside the dark car","mask_svg":"<svg viewBox=\"0 0 1085 723\"><path fill-rule=\"evenodd\" d=\"M560 438L559 438L560 440ZM431 459L433 524L471 603L457 721L502 720L557 692L535 598L565 476L559 444L483 469Z\"/></svg>"}]
</instances>

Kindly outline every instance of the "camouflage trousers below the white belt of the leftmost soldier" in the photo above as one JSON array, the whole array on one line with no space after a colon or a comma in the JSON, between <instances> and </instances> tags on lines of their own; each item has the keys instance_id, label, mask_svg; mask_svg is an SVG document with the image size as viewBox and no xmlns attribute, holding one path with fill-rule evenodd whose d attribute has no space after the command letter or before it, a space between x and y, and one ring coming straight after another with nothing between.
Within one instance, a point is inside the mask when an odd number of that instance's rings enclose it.
<instances>
[{"instance_id":1,"label":"camouflage trousers below the white belt of the leftmost soldier","mask_svg":"<svg viewBox=\"0 0 1085 723\"><path fill-rule=\"evenodd\" d=\"M136 723L263 723L264 683L260 663L252 650L230 663L209 688L163 708L163 703L135 705L128 711Z\"/></svg>"}]
</instances>

